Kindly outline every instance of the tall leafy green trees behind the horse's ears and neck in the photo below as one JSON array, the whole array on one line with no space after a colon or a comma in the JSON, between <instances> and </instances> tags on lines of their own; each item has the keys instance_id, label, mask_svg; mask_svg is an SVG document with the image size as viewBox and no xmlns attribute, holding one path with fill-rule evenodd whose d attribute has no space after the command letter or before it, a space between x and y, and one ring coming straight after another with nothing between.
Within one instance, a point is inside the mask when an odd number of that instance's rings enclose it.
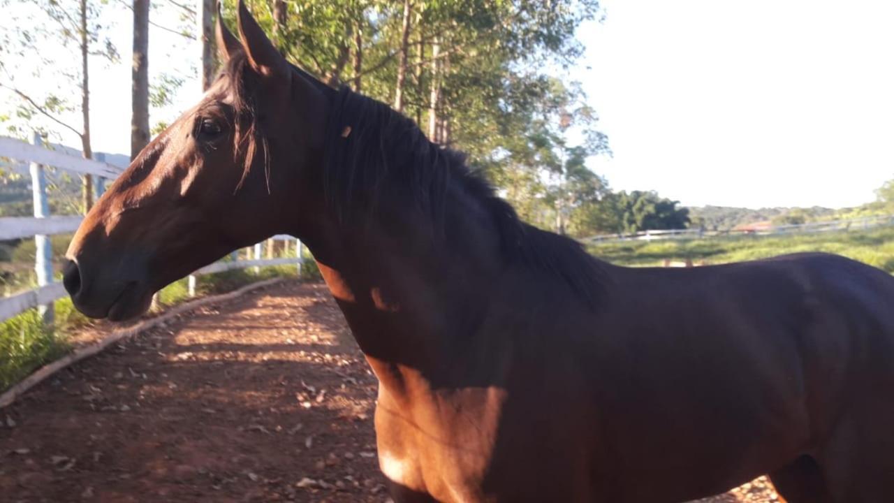
<instances>
[{"instance_id":1,"label":"tall leafy green trees behind the horse's ears and neck","mask_svg":"<svg viewBox=\"0 0 894 503\"><path fill-rule=\"evenodd\" d=\"M393 103L406 61L403 113L468 153L527 221L568 234L602 225L608 184L586 158L608 154L607 138L578 83L548 73L581 54L575 30L601 15L597 1L411 0L406 58L403 2L284 2L281 19L266 0L248 4L283 54L324 81ZM224 2L227 19L234 8Z\"/></svg>"}]
</instances>

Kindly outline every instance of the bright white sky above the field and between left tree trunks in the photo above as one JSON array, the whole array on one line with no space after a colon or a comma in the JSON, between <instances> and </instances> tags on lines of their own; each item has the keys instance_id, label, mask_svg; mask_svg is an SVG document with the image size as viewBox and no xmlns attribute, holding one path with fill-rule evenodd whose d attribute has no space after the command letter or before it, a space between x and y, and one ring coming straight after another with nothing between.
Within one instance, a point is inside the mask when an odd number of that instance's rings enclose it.
<instances>
[{"instance_id":1,"label":"bright white sky above the field and between left tree trunks","mask_svg":"<svg viewBox=\"0 0 894 503\"><path fill-rule=\"evenodd\" d=\"M587 50L572 77L609 135L614 157L590 166L612 188L685 205L842 207L894 178L894 2L603 5L605 21L579 32ZM121 8L106 24L123 63L91 66L97 151L130 150L131 22ZM155 27L150 44L152 75L198 60L196 42ZM198 94L187 81L150 123Z\"/></svg>"}]
</instances>

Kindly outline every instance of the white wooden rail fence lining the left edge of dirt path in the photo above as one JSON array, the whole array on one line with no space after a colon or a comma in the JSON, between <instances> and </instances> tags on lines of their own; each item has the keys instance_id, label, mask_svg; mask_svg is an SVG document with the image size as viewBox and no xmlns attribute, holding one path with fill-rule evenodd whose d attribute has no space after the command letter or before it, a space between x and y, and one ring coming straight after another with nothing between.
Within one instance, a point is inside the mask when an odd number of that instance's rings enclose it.
<instances>
[{"instance_id":1,"label":"white wooden rail fence lining the left edge of dirt path","mask_svg":"<svg viewBox=\"0 0 894 503\"><path fill-rule=\"evenodd\" d=\"M0 158L11 158L30 163L29 175L34 203L34 217L0 217L0 241L34 236L37 247L34 267L38 277L37 288L0 297L0 320L8 320L21 311L36 307L46 321L52 322L53 303L64 297L66 293L62 284L56 283L53 277L53 251L49 236L73 233L80 226L83 217L79 215L51 216L49 214L44 166L55 166L79 175L95 175L97 179L94 186L98 198L105 192L105 183L121 175L123 169L105 163L101 156L97 157L99 157L97 160L85 159L72 156L67 152L49 149L43 146L37 133L33 135L31 143L0 137ZM285 241L285 246L294 241L295 258L262 259L262 246L261 243L257 243L249 248L247 253L251 256L249 260L239 260L238 252L233 252L232 260L215 262L193 272L189 277L190 296L195 295L197 277L203 274L286 264L295 264L300 272L303 262L301 242L288 235L277 235L271 239Z\"/></svg>"}]
</instances>

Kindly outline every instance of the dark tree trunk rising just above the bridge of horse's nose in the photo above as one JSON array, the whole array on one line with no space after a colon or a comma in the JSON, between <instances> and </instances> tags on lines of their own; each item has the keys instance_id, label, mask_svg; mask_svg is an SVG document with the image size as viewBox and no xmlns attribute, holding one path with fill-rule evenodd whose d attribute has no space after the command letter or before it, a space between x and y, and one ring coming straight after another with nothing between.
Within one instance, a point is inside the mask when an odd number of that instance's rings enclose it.
<instances>
[{"instance_id":1,"label":"dark tree trunk rising just above the bridge of horse's nose","mask_svg":"<svg viewBox=\"0 0 894 503\"><path fill-rule=\"evenodd\" d=\"M131 160L149 142L149 0L133 0Z\"/></svg>"}]
</instances>

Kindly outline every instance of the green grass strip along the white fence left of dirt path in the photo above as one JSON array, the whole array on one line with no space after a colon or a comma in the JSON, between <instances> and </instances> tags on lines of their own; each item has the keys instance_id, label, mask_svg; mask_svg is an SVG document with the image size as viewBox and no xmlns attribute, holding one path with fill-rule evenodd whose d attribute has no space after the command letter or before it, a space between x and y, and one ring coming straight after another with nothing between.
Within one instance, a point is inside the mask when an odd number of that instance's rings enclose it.
<instances>
[{"instance_id":1,"label":"green grass strip along the white fence left of dirt path","mask_svg":"<svg viewBox=\"0 0 894 503\"><path fill-rule=\"evenodd\" d=\"M231 292L249 283L272 277L298 277L294 265L271 266L255 272L253 268L233 269L217 274L198 277L196 295L214 295ZM318 279L319 271L313 260L307 260L301 269L301 278ZM173 282L158 293L156 309L173 306L190 300L187 279ZM0 322L0 392L47 362L67 353L71 346L65 334L89 323L89 319L74 309L72 300L63 297L55 302L55 326L47 326L37 309L23 311L9 320Z\"/></svg>"}]
</instances>

